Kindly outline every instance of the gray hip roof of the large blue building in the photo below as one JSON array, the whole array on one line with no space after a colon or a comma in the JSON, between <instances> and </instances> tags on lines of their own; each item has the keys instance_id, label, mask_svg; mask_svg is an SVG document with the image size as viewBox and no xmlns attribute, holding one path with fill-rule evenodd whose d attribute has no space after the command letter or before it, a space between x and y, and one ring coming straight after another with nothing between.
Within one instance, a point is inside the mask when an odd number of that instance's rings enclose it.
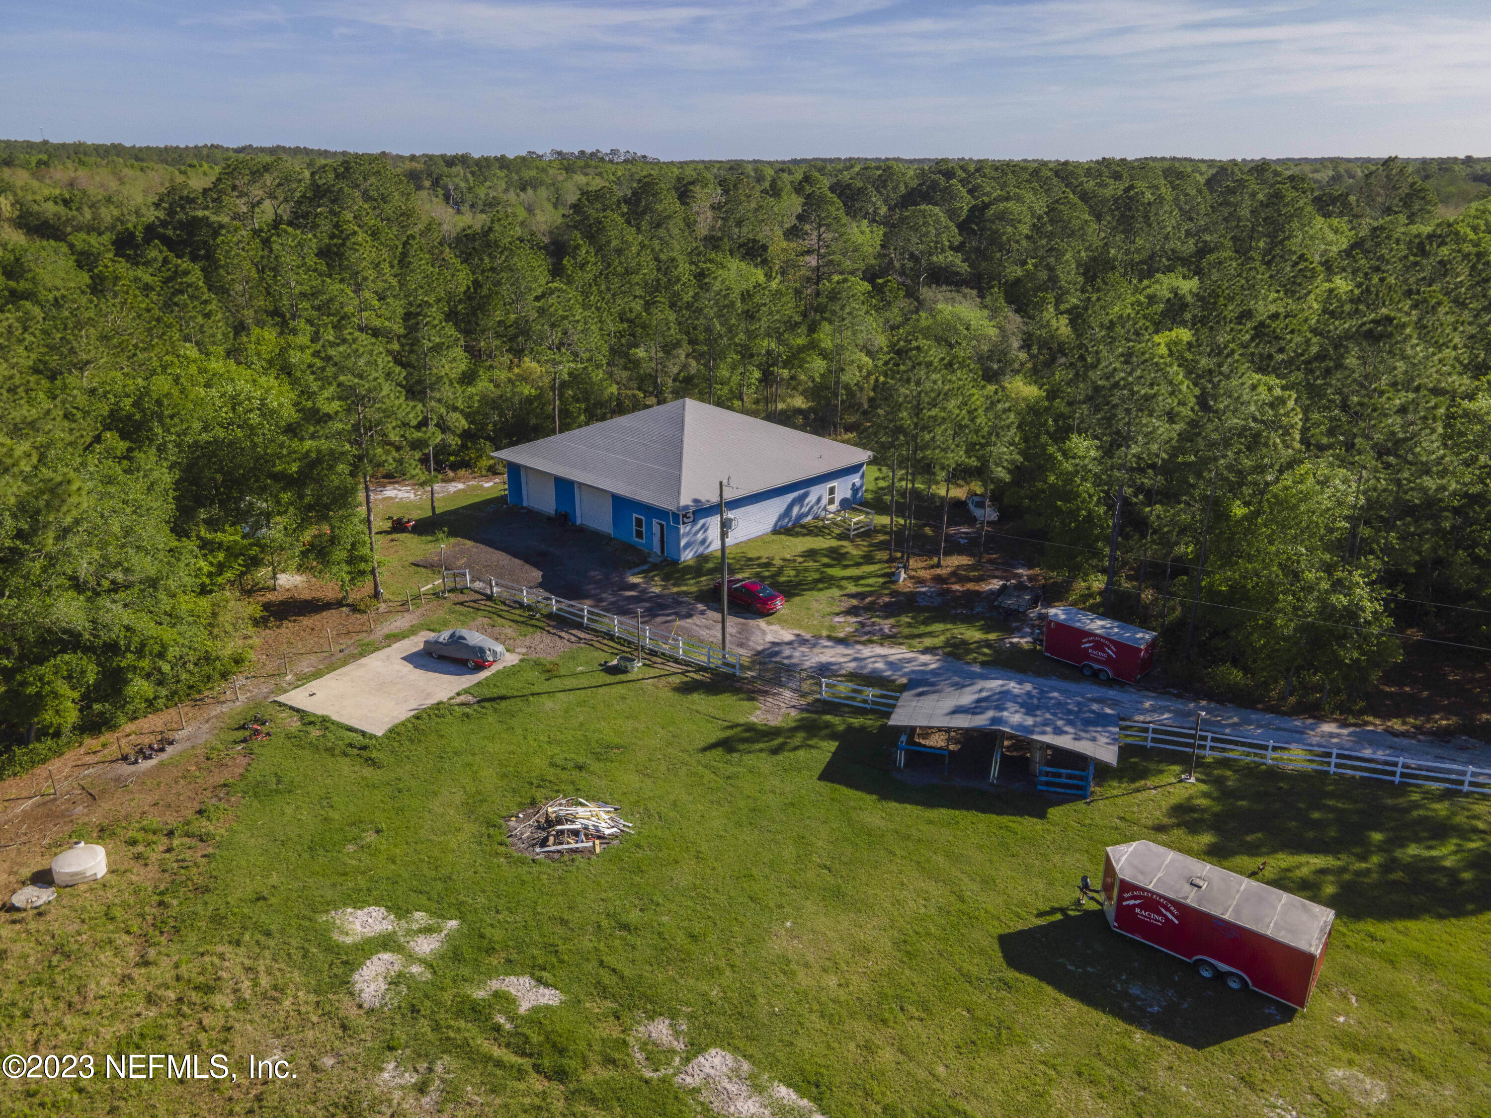
<instances>
[{"instance_id":1,"label":"gray hip roof of the large blue building","mask_svg":"<svg viewBox=\"0 0 1491 1118\"><path fill-rule=\"evenodd\" d=\"M868 450L743 416L698 399L607 419L494 453L505 462L629 496L698 508L868 462Z\"/></svg>"}]
</instances>

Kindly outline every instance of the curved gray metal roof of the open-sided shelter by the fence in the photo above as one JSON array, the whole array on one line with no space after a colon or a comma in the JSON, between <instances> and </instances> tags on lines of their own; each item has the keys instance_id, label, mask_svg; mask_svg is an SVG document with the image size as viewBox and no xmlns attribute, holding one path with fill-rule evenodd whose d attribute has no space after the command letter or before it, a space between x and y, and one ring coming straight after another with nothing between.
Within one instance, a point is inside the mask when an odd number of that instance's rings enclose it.
<instances>
[{"instance_id":1,"label":"curved gray metal roof of the open-sided shelter by the fence","mask_svg":"<svg viewBox=\"0 0 1491 1118\"><path fill-rule=\"evenodd\" d=\"M1006 730L1118 763L1118 713L1066 692L1015 680L912 680L892 726Z\"/></svg>"}]
</instances>

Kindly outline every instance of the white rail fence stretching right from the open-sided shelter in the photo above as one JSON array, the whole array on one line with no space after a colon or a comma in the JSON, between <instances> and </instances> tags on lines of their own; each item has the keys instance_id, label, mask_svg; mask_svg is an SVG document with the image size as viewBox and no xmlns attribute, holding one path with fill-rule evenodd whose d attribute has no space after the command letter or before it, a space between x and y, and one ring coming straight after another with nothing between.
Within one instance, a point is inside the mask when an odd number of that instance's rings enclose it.
<instances>
[{"instance_id":1,"label":"white rail fence stretching right from the open-sided shelter","mask_svg":"<svg viewBox=\"0 0 1491 1118\"><path fill-rule=\"evenodd\" d=\"M1200 732L1200 741L1197 741L1196 730L1190 726L1164 726L1127 719L1118 723L1118 739L1124 745L1144 745L1145 748L1175 750L1178 753L1190 753L1191 748L1196 748L1200 757L1254 760L1287 769L1325 772L1333 777L1367 777L1393 784L1425 784L1455 792L1491 793L1491 769L1478 769L1473 765L1255 741L1206 729Z\"/></svg>"}]
</instances>

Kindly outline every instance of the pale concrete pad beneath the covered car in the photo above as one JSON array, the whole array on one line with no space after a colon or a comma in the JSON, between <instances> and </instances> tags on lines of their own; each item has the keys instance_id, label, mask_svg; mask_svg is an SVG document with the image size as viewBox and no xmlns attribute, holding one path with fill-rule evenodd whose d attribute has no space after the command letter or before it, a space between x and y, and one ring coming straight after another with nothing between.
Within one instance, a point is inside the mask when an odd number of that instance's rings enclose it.
<instances>
[{"instance_id":1,"label":"pale concrete pad beneath the covered car","mask_svg":"<svg viewBox=\"0 0 1491 1118\"><path fill-rule=\"evenodd\" d=\"M423 645L434 634L426 631L379 648L356 663L280 695L277 702L298 711L325 714L356 730L383 735L425 707L444 702L473 683L523 659L510 651L491 668L471 671L464 663L426 656Z\"/></svg>"}]
</instances>

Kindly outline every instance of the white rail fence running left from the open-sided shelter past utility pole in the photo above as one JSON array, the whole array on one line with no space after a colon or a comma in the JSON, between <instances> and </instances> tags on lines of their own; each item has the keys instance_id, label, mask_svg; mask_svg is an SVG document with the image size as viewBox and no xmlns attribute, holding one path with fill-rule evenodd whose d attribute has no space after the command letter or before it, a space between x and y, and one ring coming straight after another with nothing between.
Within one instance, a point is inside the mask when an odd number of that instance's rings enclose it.
<instances>
[{"instance_id":1,"label":"white rail fence running left from the open-sided shelter past utility pole","mask_svg":"<svg viewBox=\"0 0 1491 1118\"><path fill-rule=\"evenodd\" d=\"M640 644L644 653L668 656L674 660L734 675L738 680L753 680L772 687L793 690L799 695L816 696L828 702L842 702L872 711L895 710L896 701L901 698L899 692L887 692L878 687L848 683L847 680L814 675L801 668L766 660L759 656L728 653L717 644L695 641L681 634L662 632L653 629L650 625L643 625L638 637L635 617L619 617L604 610L596 610L593 605L556 598L531 586L504 583L501 578L488 578L485 583L477 581L473 589L488 593L494 601L504 601L520 608L565 617L577 622L590 632L604 634L634 647Z\"/></svg>"}]
</instances>

